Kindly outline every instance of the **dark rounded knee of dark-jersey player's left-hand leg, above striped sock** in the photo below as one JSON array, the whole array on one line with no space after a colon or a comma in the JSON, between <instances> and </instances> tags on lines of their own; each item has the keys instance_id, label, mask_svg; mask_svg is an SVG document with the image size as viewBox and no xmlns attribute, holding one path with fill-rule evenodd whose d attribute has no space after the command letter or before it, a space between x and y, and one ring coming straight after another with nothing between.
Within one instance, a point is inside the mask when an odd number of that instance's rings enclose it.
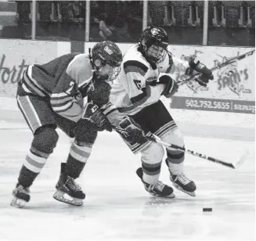
<instances>
[{"instance_id":1,"label":"dark rounded knee of dark-jersey player's left-hand leg, above striped sock","mask_svg":"<svg viewBox=\"0 0 256 241\"><path fill-rule=\"evenodd\" d=\"M59 139L55 126L42 126L34 134L32 147L42 153L52 153Z\"/></svg>"}]
</instances>

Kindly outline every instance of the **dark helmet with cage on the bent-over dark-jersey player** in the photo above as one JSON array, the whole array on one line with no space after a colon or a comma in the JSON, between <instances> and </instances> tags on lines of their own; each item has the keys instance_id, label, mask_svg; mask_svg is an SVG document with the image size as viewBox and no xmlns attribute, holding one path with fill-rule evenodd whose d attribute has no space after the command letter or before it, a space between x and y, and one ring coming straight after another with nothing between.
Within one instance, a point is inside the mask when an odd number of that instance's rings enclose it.
<instances>
[{"instance_id":1,"label":"dark helmet with cage on the bent-over dark-jersey player","mask_svg":"<svg viewBox=\"0 0 256 241\"><path fill-rule=\"evenodd\" d=\"M90 58L99 74L106 64L112 67L110 72L105 76L106 81L114 80L119 74L123 56L121 50L113 41L101 41L94 45L90 53Z\"/></svg>"}]
</instances>

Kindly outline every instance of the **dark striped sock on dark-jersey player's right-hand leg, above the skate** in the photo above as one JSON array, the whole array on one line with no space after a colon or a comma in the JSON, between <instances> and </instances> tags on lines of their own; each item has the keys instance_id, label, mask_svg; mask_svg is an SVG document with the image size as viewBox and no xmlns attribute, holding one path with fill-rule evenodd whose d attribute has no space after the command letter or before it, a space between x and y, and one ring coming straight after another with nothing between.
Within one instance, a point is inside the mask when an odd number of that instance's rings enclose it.
<instances>
[{"instance_id":1,"label":"dark striped sock on dark-jersey player's right-hand leg, above the skate","mask_svg":"<svg viewBox=\"0 0 256 241\"><path fill-rule=\"evenodd\" d=\"M83 143L79 146L75 141L70 147L67 157L66 174L71 178L78 178L92 152L92 144Z\"/></svg>"}]
</instances>

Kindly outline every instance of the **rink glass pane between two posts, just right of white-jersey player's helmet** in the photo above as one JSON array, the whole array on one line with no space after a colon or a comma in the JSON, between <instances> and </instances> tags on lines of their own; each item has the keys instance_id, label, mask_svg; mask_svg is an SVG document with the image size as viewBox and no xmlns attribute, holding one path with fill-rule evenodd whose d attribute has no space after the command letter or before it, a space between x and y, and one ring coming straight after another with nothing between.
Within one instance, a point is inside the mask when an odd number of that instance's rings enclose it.
<instances>
[{"instance_id":1,"label":"rink glass pane between two posts, just right of white-jersey player's helmet","mask_svg":"<svg viewBox=\"0 0 256 241\"><path fill-rule=\"evenodd\" d=\"M164 27L175 45L201 45L204 2L150 1L148 25Z\"/></svg>"}]
</instances>

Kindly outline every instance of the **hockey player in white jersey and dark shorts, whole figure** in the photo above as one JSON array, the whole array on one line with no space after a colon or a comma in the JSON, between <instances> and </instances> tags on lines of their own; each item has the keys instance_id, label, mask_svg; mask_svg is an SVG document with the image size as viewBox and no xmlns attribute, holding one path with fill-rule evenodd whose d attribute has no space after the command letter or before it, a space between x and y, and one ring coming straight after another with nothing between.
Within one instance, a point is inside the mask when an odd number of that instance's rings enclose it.
<instances>
[{"instance_id":1,"label":"hockey player in white jersey and dark shorts, whole figure","mask_svg":"<svg viewBox=\"0 0 256 241\"><path fill-rule=\"evenodd\" d=\"M121 113L128 114L138 123L146 136L159 136L165 142L184 146L181 131L175 124L160 96L170 98L178 91L178 85L168 74L160 76L160 72L169 73L175 65L175 57L168 52L168 35L161 27L148 27L142 33L138 44L133 45L125 53L121 63L121 73L114 80L110 101ZM201 73L197 81L207 85L213 79L211 70L204 64L179 60L186 67L186 74L194 71ZM164 148L156 142L145 141L142 144L128 142L133 153L141 153L142 167L137 170L139 178L147 192L154 196L175 197L173 189L159 181L160 167L164 158ZM196 196L196 185L186 177L184 172L183 152L167 149L166 164L170 171L170 179L175 188Z\"/></svg>"}]
</instances>

